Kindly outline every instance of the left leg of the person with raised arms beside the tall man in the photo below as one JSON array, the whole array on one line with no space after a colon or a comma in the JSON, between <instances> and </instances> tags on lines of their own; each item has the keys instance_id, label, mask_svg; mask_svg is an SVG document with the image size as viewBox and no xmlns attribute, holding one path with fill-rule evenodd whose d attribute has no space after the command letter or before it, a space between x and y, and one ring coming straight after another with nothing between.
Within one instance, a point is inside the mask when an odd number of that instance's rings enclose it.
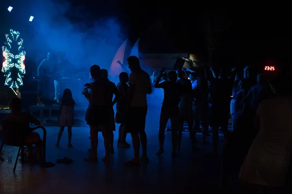
<instances>
[{"instance_id":1,"label":"left leg of the person with raised arms beside the tall man","mask_svg":"<svg viewBox=\"0 0 292 194\"><path fill-rule=\"evenodd\" d=\"M159 140L160 149L158 150L158 152L156 154L163 154L164 153L164 149L163 149L164 139L165 139L164 132L165 132L165 128L167 125L167 121L169 119L169 116L168 116L169 111L170 111L169 109L162 108L161 112L160 112L159 132L158 132L158 140Z\"/></svg>"}]
</instances>

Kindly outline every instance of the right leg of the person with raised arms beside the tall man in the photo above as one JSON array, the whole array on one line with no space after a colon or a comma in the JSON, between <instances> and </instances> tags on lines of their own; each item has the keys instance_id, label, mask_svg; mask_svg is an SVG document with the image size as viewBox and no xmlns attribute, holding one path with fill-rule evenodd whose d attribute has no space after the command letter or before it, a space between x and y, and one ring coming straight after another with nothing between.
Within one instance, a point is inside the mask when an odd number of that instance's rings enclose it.
<instances>
[{"instance_id":1,"label":"right leg of the person with raised arms beside the tall man","mask_svg":"<svg viewBox=\"0 0 292 194\"><path fill-rule=\"evenodd\" d=\"M173 110L170 116L171 122L171 142L172 142L172 155L176 156L176 148L178 145L178 129L179 129L179 110Z\"/></svg>"}]
</instances>

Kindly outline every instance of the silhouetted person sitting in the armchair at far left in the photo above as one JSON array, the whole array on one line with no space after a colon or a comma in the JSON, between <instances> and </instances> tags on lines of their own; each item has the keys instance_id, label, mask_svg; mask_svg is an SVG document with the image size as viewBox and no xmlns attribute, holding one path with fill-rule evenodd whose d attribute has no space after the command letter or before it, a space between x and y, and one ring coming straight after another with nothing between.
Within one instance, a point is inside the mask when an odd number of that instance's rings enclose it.
<instances>
[{"instance_id":1,"label":"silhouetted person sitting in the armchair at far left","mask_svg":"<svg viewBox=\"0 0 292 194\"><path fill-rule=\"evenodd\" d=\"M36 144L37 150L40 151L37 155L41 156L41 139L37 132L29 127L30 123L40 125L40 122L29 113L22 113L21 99L18 97L12 98L9 101L9 108L11 113L6 115L6 118L1 122L1 130L13 130L12 134L15 136L14 140L23 141L25 144ZM32 153L32 146L28 147L29 153Z\"/></svg>"}]
</instances>

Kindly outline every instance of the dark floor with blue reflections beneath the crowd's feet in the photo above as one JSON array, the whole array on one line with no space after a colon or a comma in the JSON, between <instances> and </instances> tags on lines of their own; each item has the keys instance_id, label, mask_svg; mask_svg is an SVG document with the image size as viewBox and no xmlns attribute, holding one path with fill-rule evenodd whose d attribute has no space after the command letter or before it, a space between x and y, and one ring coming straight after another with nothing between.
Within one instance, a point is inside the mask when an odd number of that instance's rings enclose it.
<instances>
[{"instance_id":1,"label":"dark floor with blue reflections beneath the crowd's feet","mask_svg":"<svg viewBox=\"0 0 292 194\"><path fill-rule=\"evenodd\" d=\"M141 167L124 166L132 159L133 149L117 148L106 165L100 159L104 156L103 139L100 134L98 145L98 163L84 162L89 156L89 128L73 128L73 148L67 148L67 132L64 132L60 148L55 147L58 127L47 127L47 161L69 157L73 164L56 164L51 168L18 163L15 174L13 165L17 148L4 146L4 159L11 152L13 162L0 165L0 193L4 194L161 194L161 193L220 193L222 178L222 157L212 157L211 144L202 144L198 134L197 147L191 152L190 139L183 134L182 150L176 159L171 158L171 134L166 132L165 153L156 156L158 150L157 129L146 126L148 136L149 163ZM41 134L41 131L39 131ZM117 141L117 131L114 132ZM42 135L42 134L41 134ZM131 138L128 135L128 143ZM211 142L211 137L208 137Z\"/></svg>"}]
</instances>

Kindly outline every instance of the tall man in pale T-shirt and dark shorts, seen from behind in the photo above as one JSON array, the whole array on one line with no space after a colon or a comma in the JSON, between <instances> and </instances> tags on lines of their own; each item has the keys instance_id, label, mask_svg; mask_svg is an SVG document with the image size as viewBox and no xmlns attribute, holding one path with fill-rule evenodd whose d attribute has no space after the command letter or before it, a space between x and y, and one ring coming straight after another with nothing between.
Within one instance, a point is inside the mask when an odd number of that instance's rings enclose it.
<instances>
[{"instance_id":1,"label":"tall man in pale T-shirt and dark shorts, seen from behind","mask_svg":"<svg viewBox=\"0 0 292 194\"><path fill-rule=\"evenodd\" d=\"M142 160L147 161L147 137L145 123L147 114L147 94L151 94L151 81L149 75L141 69L139 59L130 56L128 59L131 74L129 77L128 91L128 122L127 132L131 133L134 159L126 165L140 165L140 141L142 145Z\"/></svg>"}]
</instances>

